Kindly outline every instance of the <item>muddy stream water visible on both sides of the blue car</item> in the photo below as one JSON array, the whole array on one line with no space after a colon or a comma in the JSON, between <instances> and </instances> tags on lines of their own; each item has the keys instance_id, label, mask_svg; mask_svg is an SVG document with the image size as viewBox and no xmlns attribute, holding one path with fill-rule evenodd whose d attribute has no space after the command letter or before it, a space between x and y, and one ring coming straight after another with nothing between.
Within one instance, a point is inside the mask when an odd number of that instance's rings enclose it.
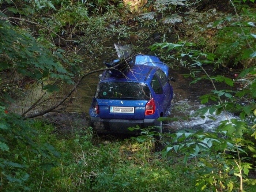
<instances>
[{"instance_id":1,"label":"muddy stream water visible on both sides of the blue car","mask_svg":"<svg viewBox=\"0 0 256 192\"><path fill-rule=\"evenodd\" d=\"M102 66L103 67L103 64ZM212 69L208 69L209 73L212 73ZM186 68L170 69L170 76L176 79L176 82L171 82L174 89L174 98L172 106L170 108L170 117L187 117L185 120L178 120L175 122L165 122L163 130L170 132L177 129L205 129L207 131L213 130L218 126L220 121L225 120L224 116L215 116L216 120L213 121L210 118L201 118L199 116L193 116L193 113L199 108L203 108L206 105L200 103L199 97L211 93L213 90L210 81L204 80L196 84L190 84L190 78L184 78L182 74L188 74L189 71ZM88 114L92 98L95 94L95 90L98 84L98 75L92 74L87 76L80 84L71 102L68 103L69 112L83 112ZM218 90L230 89L230 87L224 84L216 84ZM228 114L229 118L236 118L233 114Z\"/></svg>"}]
</instances>

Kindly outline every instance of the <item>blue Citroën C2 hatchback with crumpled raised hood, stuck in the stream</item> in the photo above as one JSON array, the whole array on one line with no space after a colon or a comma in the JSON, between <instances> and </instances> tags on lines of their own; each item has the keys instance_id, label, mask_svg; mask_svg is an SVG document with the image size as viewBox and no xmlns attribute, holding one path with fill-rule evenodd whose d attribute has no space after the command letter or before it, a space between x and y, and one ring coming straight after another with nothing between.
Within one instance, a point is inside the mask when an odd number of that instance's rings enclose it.
<instances>
[{"instance_id":1,"label":"blue Citro\u00ebn C2 hatchback with crumpled raised hood, stuck in the stream","mask_svg":"<svg viewBox=\"0 0 256 192\"><path fill-rule=\"evenodd\" d=\"M137 125L162 132L158 118L167 115L173 98L169 67L158 57L143 54L129 64L122 72L103 72L89 109L95 132L131 133L127 128Z\"/></svg>"}]
</instances>

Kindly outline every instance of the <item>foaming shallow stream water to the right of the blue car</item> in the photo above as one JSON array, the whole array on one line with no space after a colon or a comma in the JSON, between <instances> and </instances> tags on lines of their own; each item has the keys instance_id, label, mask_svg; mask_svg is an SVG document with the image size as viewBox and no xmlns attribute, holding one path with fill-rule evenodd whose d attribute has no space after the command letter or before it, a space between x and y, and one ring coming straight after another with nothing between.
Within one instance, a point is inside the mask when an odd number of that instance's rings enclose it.
<instances>
[{"instance_id":1,"label":"foaming shallow stream water to the right of the blue car","mask_svg":"<svg viewBox=\"0 0 256 192\"><path fill-rule=\"evenodd\" d=\"M212 69L208 69L209 74L212 73ZM209 115L215 118L212 120L211 118L205 117L202 118L200 115L195 115L197 109L201 109L204 107L213 104L213 102L201 104L199 97L204 94L211 94L211 90L214 90L210 80L201 80L195 84L190 84L192 79L184 78L182 74L188 74L187 69L180 69L177 71L173 71L173 77L176 79L176 82L172 83L174 88L174 98L172 107L170 109L170 117L177 117L182 120L166 122L164 124L164 131L169 132L177 129L204 129L205 131L214 131L216 127L223 120L227 120L226 116L221 113L220 115L206 113L205 116ZM230 75L232 78L232 75ZM234 89L228 87L224 83L215 84L217 90L223 89ZM232 113L227 113L227 117L237 118Z\"/></svg>"}]
</instances>

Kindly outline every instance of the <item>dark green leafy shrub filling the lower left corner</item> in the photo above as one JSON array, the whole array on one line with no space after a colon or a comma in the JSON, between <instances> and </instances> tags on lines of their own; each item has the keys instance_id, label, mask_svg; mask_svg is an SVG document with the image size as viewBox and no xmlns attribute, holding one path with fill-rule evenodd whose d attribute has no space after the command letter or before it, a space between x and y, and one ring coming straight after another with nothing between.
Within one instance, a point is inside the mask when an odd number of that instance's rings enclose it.
<instances>
[{"instance_id":1,"label":"dark green leafy shrub filling the lower left corner","mask_svg":"<svg viewBox=\"0 0 256 192\"><path fill-rule=\"evenodd\" d=\"M3 107L0 107L0 124L0 189L30 191L31 171L35 168L38 172L46 167L50 169L56 164L54 157L60 157L60 154L47 140L39 139L45 134L32 128L32 121L24 121Z\"/></svg>"}]
</instances>

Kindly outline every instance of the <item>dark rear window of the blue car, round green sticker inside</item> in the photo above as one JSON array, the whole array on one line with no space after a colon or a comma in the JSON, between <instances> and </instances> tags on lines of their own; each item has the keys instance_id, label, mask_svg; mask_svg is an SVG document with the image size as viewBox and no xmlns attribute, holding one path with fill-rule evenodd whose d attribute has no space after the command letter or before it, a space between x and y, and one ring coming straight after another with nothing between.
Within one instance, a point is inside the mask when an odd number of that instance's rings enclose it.
<instances>
[{"instance_id":1,"label":"dark rear window of the blue car, round green sticker inside","mask_svg":"<svg viewBox=\"0 0 256 192\"><path fill-rule=\"evenodd\" d=\"M102 82L97 89L98 99L149 100L150 90L145 83Z\"/></svg>"}]
</instances>

